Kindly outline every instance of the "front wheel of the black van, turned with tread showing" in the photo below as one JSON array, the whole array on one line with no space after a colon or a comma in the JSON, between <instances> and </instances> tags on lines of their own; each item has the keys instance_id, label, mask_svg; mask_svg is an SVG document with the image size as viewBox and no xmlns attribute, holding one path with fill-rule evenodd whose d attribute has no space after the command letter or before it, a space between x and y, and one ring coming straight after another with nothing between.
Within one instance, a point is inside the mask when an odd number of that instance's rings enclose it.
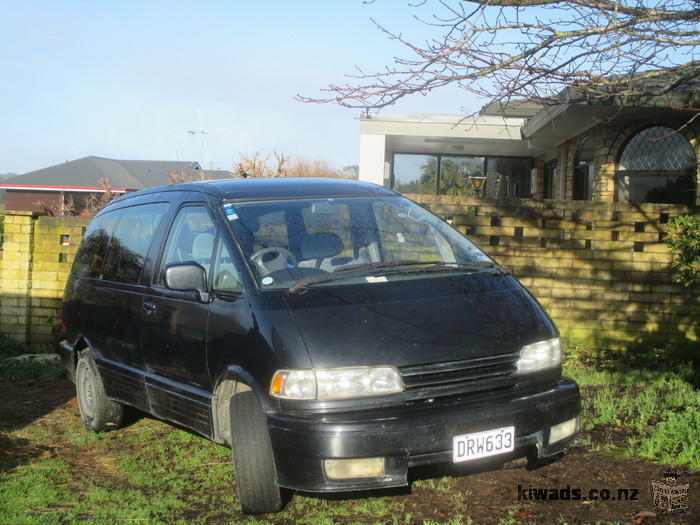
<instances>
[{"instance_id":1,"label":"front wheel of the black van, turned with tread showing","mask_svg":"<svg viewBox=\"0 0 700 525\"><path fill-rule=\"evenodd\" d=\"M246 514L282 510L267 417L253 392L231 398L231 450L238 499Z\"/></svg>"}]
</instances>

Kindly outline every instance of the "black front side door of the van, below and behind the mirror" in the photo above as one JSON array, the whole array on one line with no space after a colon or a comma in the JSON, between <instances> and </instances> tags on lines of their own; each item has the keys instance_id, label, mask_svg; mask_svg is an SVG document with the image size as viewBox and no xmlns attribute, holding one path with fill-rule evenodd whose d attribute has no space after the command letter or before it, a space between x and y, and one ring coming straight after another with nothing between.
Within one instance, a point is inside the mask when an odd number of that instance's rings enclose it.
<instances>
[{"instance_id":1,"label":"black front side door of the van, below and behind the mirror","mask_svg":"<svg viewBox=\"0 0 700 525\"><path fill-rule=\"evenodd\" d=\"M142 304L141 348L151 412L211 435L211 380L206 333L209 305L195 292L165 287L165 267L194 261L209 276L217 229L204 203L185 204L175 215Z\"/></svg>"}]
</instances>

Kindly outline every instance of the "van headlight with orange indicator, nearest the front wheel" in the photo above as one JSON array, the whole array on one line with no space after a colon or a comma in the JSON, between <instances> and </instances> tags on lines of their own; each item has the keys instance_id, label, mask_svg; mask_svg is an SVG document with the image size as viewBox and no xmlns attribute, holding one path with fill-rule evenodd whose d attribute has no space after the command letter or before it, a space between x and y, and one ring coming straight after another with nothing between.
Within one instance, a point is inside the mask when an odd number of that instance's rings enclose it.
<instances>
[{"instance_id":1,"label":"van headlight with orange indicator, nearest the front wheel","mask_svg":"<svg viewBox=\"0 0 700 525\"><path fill-rule=\"evenodd\" d=\"M347 399L403 390L401 375L393 366L280 370L270 383L270 394L282 399Z\"/></svg>"}]
</instances>

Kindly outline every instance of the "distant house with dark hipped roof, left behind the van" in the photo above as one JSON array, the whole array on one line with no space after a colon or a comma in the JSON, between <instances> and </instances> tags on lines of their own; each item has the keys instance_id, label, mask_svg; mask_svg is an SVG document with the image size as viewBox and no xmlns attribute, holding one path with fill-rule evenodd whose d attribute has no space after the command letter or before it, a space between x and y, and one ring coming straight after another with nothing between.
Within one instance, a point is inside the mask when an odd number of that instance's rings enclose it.
<instances>
[{"instance_id":1,"label":"distant house with dark hipped roof, left behind the van","mask_svg":"<svg viewBox=\"0 0 700 525\"><path fill-rule=\"evenodd\" d=\"M41 212L72 202L81 210L91 195L117 194L153 186L233 176L224 170L203 170L192 161L116 160L89 156L0 181L5 209ZM11 184L10 184L11 182Z\"/></svg>"}]
</instances>

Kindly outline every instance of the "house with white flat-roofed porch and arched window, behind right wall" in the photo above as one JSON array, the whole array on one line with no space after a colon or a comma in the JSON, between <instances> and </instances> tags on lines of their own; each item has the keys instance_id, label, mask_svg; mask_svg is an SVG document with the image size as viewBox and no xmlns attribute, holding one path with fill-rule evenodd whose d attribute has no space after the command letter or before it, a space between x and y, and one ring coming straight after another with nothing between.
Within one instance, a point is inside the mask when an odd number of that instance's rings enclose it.
<instances>
[{"instance_id":1,"label":"house with white flat-roofed porch and arched window, behind right wall","mask_svg":"<svg viewBox=\"0 0 700 525\"><path fill-rule=\"evenodd\" d=\"M663 96L515 101L360 121L360 180L404 193L700 205L698 83Z\"/></svg>"}]
</instances>

